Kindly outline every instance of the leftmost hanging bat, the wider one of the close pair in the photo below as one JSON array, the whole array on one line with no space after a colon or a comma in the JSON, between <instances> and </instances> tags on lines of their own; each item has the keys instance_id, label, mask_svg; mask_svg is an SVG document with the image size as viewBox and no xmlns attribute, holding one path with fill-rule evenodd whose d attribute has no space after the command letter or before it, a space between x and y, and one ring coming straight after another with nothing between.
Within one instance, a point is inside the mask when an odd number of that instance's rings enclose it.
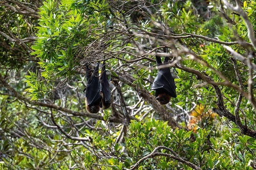
<instances>
[{"instance_id":1,"label":"leftmost hanging bat, the wider one of the close pair","mask_svg":"<svg viewBox=\"0 0 256 170\"><path fill-rule=\"evenodd\" d=\"M99 87L99 64L94 71L86 66L87 87L86 91L86 109L90 113L98 113L101 102L100 87Z\"/></svg>"}]
</instances>

